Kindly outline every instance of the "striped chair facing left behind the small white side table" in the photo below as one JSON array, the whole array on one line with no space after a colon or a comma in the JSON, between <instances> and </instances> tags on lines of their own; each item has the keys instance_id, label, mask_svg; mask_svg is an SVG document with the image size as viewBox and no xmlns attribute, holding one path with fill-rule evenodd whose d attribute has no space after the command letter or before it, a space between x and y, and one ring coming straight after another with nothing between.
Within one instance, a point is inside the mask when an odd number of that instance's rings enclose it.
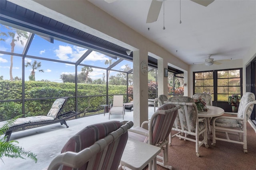
<instances>
[{"instance_id":1,"label":"striped chair facing left behind the small white side table","mask_svg":"<svg viewBox=\"0 0 256 170\"><path fill-rule=\"evenodd\" d=\"M141 127L129 129L129 138L155 145L162 149L163 156L157 156L162 162L157 161L157 164L168 169L172 169L172 166L167 164L168 135L170 134L179 108L180 106L175 106L174 104L164 104L157 109L149 121L144 121ZM148 130L143 128L145 126L148 127ZM151 169L151 166L149 164L149 169Z\"/></svg>"}]
</instances>

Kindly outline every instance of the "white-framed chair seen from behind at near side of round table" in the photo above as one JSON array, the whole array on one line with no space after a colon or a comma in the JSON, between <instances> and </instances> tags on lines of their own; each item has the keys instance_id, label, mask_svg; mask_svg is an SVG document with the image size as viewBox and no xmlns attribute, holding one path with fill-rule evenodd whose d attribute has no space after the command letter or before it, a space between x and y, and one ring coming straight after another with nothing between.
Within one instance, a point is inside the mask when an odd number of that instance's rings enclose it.
<instances>
[{"instance_id":1,"label":"white-framed chair seen from behind at near side of round table","mask_svg":"<svg viewBox=\"0 0 256 170\"><path fill-rule=\"evenodd\" d=\"M196 143L196 156L200 156L199 147L203 144L206 148L207 144L207 121L206 118L198 118L198 111L194 100L187 96L174 96L168 99L167 103L176 104L181 106L178 110L178 115L174 122L172 131L178 133L172 135L170 133L170 145L172 144L173 137L179 137L180 139L192 141ZM187 135L194 136L187 137ZM200 141L200 135L203 136L203 140ZM194 139L195 138L195 139Z\"/></svg>"}]
</instances>

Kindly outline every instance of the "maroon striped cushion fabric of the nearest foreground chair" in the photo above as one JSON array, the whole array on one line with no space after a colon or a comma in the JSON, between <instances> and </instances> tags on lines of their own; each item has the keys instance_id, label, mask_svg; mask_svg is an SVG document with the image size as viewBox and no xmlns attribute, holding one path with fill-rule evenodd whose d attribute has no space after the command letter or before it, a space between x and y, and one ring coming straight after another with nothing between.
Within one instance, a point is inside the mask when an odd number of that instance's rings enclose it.
<instances>
[{"instance_id":1,"label":"maroon striped cushion fabric of the nearest foreground chair","mask_svg":"<svg viewBox=\"0 0 256 170\"><path fill-rule=\"evenodd\" d=\"M76 135L71 137L66 145L64 145L61 152L79 152L87 147L93 145L96 141L106 137L112 131L117 130L122 123L119 121L109 121L105 123L98 123L94 125L90 125L82 129ZM128 133L124 133L119 140L114 141L108 148L99 152L96 157L90 160L90 164L93 164L93 169L104 169L104 170L115 170L118 168L124 147L126 145L126 141L128 139ZM88 162L84 164L82 167L78 168L78 170L86 170L88 166ZM73 170L68 166L62 166L62 170Z\"/></svg>"}]
</instances>

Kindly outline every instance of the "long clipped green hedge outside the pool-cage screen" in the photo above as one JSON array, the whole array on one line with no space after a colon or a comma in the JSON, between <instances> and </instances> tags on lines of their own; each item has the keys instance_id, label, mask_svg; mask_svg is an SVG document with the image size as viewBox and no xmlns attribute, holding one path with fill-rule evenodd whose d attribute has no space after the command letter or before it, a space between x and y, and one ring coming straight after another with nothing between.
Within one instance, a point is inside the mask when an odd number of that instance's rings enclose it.
<instances>
[{"instance_id":1,"label":"long clipped green hedge outside the pool-cage screen","mask_svg":"<svg viewBox=\"0 0 256 170\"><path fill-rule=\"evenodd\" d=\"M108 86L108 93L126 94L126 86ZM78 96L89 96L78 98L78 112L98 113L98 106L106 104L106 85L102 84L78 84ZM75 84L57 83L57 82L25 82L25 99L32 98L52 98L52 97L73 97L69 98L65 111L75 111ZM111 98L111 97L110 97ZM21 81L0 81L0 100L22 99ZM124 100L126 98L124 97ZM31 100L25 102L25 117L34 115L46 115L50 110L55 99L51 100ZM111 101L110 101L111 102ZM125 102L125 101L124 101ZM11 119L22 113L21 102L1 102L0 103L0 121Z\"/></svg>"}]
</instances>

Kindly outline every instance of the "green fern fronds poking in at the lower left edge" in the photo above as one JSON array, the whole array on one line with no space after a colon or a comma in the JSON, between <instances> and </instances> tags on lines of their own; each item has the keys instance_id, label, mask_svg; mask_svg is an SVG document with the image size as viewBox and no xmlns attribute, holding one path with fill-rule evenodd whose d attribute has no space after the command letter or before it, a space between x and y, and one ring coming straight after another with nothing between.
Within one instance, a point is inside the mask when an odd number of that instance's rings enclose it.
<instances>
[{"instance_id":1,"label":"green fern fronds poking in at the lower left edge","mask_svg":"<svg viewBox=\"0 0 256 170\"><path fill-rule=\"evenodd\" d=\"M16 121L17 117L11 120L8 120L6 124L0 127L0 136L4 135L6 131L8 131L9 126L12 125ZM8 158L21 158L25 159L24 157L30 158L37 162L36 154L32 153L31 151L26 151L24 148L19 147L16 145L18 141L6 141L7 136L0 138L0 159L6 156ZM2 160L3 161L3 160ZM4 161L3 161L4 162Z\"/></svg>"}]
</instances>

